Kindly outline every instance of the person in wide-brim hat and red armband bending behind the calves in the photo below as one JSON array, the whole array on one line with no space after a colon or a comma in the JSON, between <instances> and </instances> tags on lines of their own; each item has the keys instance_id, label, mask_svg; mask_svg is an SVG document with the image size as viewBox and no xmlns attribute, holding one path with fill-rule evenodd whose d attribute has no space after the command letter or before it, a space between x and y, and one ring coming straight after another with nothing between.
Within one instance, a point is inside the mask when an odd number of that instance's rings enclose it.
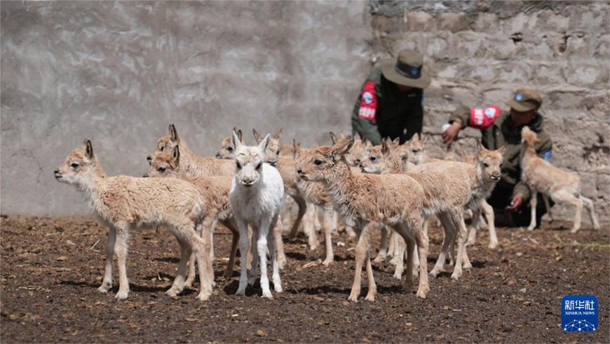
<instances>
[{"instance_id":1,"label":"person in wide-brim hat and red armband bending behind the calves","mask_svg":"<svg viewBox=\"0 0 610 344\"><path fill-rule=\"evenodd\" d=\"M382 138L405 143L423 126L423 88L431 79L417 51L403 50L395 62L374 67L351 116L352 133L381 145Z\"/></svg>"}]
</instances>

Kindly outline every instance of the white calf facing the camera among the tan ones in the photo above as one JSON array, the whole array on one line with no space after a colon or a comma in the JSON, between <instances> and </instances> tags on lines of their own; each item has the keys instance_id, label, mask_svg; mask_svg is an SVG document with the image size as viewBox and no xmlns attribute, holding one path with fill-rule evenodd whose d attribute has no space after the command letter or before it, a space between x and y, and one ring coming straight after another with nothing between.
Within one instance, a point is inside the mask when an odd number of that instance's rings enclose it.
<instances>
[{"instance_id":1,"label":"white calf facing the camera among the tan ones","mask_svg":"<svg viewBox=\"0 0 610 344\"><path fill-rule=\"evenodd\" d=\"M239 228L240 251L248 252L250 239L248 225L252 226L252 241L256 240L257 250L252 252L250 278L245 259L241 259L241 274L236 295L245 295L248 284L256 279L257 263L261 263L261 288L263 297L271 298L269 277L267 277L266 250L269 248L273 265L273 289L282 291L273 228L278 220L284 184L276 168L264 162L264 152L269 145L269 135L258 146L245 146L236 133L232 133L235 146L236 173L231 182L229 200ZM271 228L271 230L270 230Z\"/></svg>"}]
</instances>

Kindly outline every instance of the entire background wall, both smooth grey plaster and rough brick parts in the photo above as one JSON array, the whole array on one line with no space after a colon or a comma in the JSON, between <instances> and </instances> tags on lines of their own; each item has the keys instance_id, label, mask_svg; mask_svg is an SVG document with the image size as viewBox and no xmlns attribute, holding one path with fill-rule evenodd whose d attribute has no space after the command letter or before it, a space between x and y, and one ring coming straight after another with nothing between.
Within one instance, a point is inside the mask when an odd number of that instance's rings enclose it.
<instances>
[{"instance_id":1,"label":"entire background wall, both smooth grey plaster and rough brick parts","mask_svg":"<svg viewBox=\"0 0 610 344\"><path fill-rule=\"evenodd\" d=\"M459 104L545 100L554 164L610 216L608 1L22 2L1 6L1 213L86 213L53 169L83 138L110 175L140 176L169 123L214 154L233 126L327 142L370 66L401 48L433 72L424 131ZM454 148L473 152L480 134ZM557 217L571 218L557 206ZM587 223L587 216L583 216Z\"/></svg>"}]
</instances>

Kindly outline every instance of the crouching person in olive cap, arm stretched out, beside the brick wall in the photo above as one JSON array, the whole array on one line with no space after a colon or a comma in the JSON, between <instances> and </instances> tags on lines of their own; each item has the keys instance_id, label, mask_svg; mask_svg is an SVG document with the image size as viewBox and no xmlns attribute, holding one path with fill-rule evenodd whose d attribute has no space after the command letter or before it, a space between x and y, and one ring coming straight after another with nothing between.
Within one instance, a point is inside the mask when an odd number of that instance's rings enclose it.
<instances>
[{"instance_id":1,"label":"crouching person in olive cap, arm stretched out, beside the brick wall","mask_svg":"<svg viewBox=\"0 0 610 344\"><path fill-rule=\"evenodd\" d=\"M541 195L531 195L529 187L521 181L521 129L529 126L536 132L539 139L535 146L536 152L547 161L551 158L553 142L543 130L543 116L538 112L542 105L540 93L519 88L506 101L506 105L510 107L510 111L503 111L496 105L484 109L458 107L449 117L451 126L442 133L442 138L447 145L451 145L460 129L470 126L480 129L481 143L488 150L497 150L506 145L501 167L502 176L487 202L496 210L510 211L512 223L509 222L509 225L527 226L531 219L529 199ZM536 225L540 225L540 218L546 211L544 202L538 199Z\"/></svg>"}]
</instances>

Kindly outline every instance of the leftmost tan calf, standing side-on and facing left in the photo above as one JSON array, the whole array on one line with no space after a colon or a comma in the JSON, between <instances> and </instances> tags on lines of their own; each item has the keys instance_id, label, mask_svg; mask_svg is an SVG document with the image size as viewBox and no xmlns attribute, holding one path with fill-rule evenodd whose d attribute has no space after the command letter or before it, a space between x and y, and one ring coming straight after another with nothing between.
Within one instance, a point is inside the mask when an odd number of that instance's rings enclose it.
<instances>
[{"instance_id":1,"label":"leftmost tan calf, standing side-on and facing left","mask_svg":"<svg viewBox=\"0 0 610 344\"><path fill-rule=\"evenodd\" d=\"M109 227L106 244L106 271L98 291L107 293L112 286L112 260L118 263L118 293L127 298L127 251L129 232L140 225L165 225L175 235L182 249L178 272L166 292L176 296L184 289L187 262L193 251L199 262L201 291L197 298L207 300L212 292L208 274L204 273L205 243L195 233L201 218L203 199L194 185L177 179L106 176L93 154L90 140L81 149L73 150L65 163L55 170L55 179L75 185L83 192L87 204L100 223Z\"/></svg>"}]
</instances>

